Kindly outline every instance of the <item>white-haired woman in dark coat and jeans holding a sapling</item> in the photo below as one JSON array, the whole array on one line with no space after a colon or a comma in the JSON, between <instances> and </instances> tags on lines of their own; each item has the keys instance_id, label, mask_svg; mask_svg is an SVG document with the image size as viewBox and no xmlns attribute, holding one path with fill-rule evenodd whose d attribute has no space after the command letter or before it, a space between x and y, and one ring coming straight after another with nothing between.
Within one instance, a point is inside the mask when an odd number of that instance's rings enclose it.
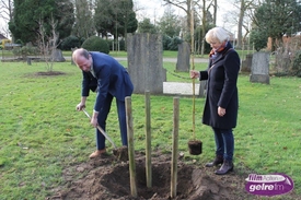
<instances>
[{"instance_id":1,"label":"white-haired woman in dark coat and jeans holding a sapling","mask_svg":"<svg viewBox=\"0 0 301 200\"><path fill-rule=\"evenodd\" d=\"M233 169L234 137L236 127L239 95L238 77L240 57L229 43L229 34L222 27L213 27L206 34L210 44L209 66L206 71L190 71L192 79L207 80L207 96L202 123L212 127L216 141L216 157L206 167L221 167L217 175Z\"/></svg>"}]
</instances>

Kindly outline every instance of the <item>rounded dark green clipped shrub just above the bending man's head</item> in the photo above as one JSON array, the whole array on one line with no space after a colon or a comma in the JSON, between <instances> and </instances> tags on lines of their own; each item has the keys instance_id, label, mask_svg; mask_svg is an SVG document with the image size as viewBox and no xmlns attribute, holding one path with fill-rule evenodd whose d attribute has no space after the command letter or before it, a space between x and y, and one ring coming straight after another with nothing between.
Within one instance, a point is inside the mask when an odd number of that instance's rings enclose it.
<instances>
[{"instance_id":1,"label":"rounded dark green clipped shrub just above the bending man's head","mask_svg":"<svg viewBox=\"0 0 301 200\"><path fill-rule=\"evenodd\" d=\"M97 36L91 36L88 39L85 39L81 46L82 48L90 50L90 51L100 51L104 54L109 52L109 47L106 43L106 40L102 39Z\"/></svg>"}]
</instances>

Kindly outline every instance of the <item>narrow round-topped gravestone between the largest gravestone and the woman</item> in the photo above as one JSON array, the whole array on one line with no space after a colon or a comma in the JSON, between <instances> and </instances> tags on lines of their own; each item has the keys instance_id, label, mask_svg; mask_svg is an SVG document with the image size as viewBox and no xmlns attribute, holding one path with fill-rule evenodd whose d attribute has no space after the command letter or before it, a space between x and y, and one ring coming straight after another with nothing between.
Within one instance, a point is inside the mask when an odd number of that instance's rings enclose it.
<instances>
[{"instance_id":1,"label":"narrow round-topped gravestone between the largest gravestone and the woman","mask_svg":"<svg viewBox=\"0 0 301 200\"><path fill-rule=\"evenodd\" d=\"M176 71L188 72L190 69L190 45L183 42L178 45Z\"/></svg>"}]
</instances>

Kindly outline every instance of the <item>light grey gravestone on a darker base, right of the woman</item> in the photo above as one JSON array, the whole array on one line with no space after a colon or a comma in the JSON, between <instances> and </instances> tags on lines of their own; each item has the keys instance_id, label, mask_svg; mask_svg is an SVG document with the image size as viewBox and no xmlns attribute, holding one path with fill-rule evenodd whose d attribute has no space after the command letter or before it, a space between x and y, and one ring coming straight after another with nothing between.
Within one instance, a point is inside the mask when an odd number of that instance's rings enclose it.
<instances>
[{"instance_id":1,"label":"light grey gravestone on a darker base, right of the woman","mask_svg":"<svg viewBox=\"0 0 301 200\"><path fill-rule=\"evenodd\" d=\"M269 54L254 52L251 67L251 82L269 84Z\"/></svg>"}]
</instances>

